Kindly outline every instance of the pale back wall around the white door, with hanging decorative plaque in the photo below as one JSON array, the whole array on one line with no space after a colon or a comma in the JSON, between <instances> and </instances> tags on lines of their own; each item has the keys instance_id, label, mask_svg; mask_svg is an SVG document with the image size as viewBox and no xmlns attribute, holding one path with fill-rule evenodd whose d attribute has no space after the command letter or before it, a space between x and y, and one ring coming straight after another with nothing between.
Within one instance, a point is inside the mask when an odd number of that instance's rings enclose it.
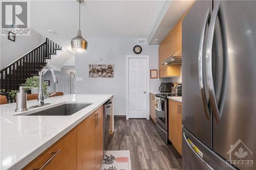
<instances>
[{"instance_id":1,"label":"pale back wall around the white door, with hanging decorative plaque","mask_svg":"<svg viewBox=\"0 0 256 170\"><path fill-rule=\"evenodd\" d=\"M114 93L114 113L125 115L126 83L125 58L135 55L133 47L136 38L94 38L87 39L88 52L75 55L76 78L83 78L76 82L76 93ZM141 45L140 55L150 56L150 69L158 69L158 45ZM114 78L89 78L88 65L100 59L115 64ZM149 70L148 70L149 71ZM150 91L157 91L160 79L150 79Z\"/></svg>"}]
</instances>

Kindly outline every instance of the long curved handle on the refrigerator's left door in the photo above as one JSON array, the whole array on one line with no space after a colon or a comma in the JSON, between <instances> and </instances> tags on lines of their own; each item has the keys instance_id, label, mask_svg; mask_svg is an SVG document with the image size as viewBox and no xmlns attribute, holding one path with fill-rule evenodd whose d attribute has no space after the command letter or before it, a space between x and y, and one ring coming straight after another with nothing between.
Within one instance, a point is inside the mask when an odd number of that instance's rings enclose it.
<instances>
[{"instance_id":1,"label":"long curved handle on the refrigerator's left door","mask_svg":"<svg viewBox=\"0 0 256 170\"><path fill-rule=\"evenodd\" d=\"M200 37L200 42L199 42L199 54L198 54L199 86L200 86L205 116L208 120L210 119L210 112L208 109L208 104L207 104L208 102L206 100L205 82L204 82L204 77L203 77L203 47L204 47L204 37L206 34L206 28L207 28L207 23L208 23L209 19L210 19L210 8L208 7L207 12L205 14L204 22L203 22L204 25L202 27L202 32L201 32L201 37Z\"/></svg>"}]
</instances>

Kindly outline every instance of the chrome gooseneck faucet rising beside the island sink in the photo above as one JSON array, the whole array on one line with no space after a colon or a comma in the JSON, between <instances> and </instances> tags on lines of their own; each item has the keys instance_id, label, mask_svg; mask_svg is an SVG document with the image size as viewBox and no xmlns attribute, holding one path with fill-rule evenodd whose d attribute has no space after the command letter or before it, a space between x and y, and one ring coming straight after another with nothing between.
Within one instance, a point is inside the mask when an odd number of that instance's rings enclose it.
<instances>
[{"instance_id":1,"label":"chrome gooseneck faucet rising beside the island sink","mask_svg":"<svg viewBox=\"0 0 256 170\"><path fill-rule=\"evenodd\" d=\"M52 67L45 66L44 68L41 69L41 71L39 72L39 89L38 89L38 99L37 99L39 106L45 105L44 75L46 74L47 71L51 72L53 82L58 83L57 76L55 75L55 72Z\"/></svg>"}]
</instances>

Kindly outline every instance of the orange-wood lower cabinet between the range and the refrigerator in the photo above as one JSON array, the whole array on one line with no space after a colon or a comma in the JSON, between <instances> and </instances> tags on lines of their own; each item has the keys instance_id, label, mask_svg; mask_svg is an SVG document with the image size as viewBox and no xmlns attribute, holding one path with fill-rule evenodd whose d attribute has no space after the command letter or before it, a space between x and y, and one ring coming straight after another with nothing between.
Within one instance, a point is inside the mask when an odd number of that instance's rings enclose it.
<instances>
[{"instance_id":1,"label":"orange-wood lower cabinet between the range and the refrigerator","mask_svg":"<svg viewBox=\"0 0 256 170\"><path fill-rule=\"evenodd\" d=\"M169 99L168 104L168 138L182 155L182 103Z\"/></svg>"}]
</instances>

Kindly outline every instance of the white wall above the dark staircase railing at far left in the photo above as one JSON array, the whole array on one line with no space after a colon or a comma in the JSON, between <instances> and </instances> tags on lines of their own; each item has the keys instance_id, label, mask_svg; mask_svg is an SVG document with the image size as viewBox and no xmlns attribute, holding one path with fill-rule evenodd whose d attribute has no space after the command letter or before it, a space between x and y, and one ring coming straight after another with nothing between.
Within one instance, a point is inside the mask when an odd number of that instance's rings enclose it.
<instances>
[{"instance_id":1,"label":"white wall above the dark staircase railing at far left","mask_svg":"<svg viewBox=\"0 0 256 170\"><path fill-rule=\"evenodd\" d=\"M15 42L1 36L0 69L33 50L45 41L41 34L30 31L30 36L16 36Z\"/></svg>"}]
</instances>

